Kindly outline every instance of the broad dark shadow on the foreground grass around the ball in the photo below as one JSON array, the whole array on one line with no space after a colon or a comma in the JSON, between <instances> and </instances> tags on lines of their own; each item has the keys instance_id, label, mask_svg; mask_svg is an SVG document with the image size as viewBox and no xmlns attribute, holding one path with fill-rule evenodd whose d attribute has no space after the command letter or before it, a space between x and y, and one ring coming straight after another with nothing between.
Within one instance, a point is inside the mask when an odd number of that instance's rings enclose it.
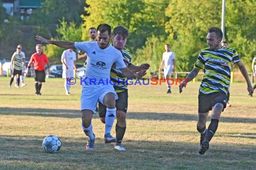
<instances>
[{"instance_id":1,"label":"broad dark shadow on the foreground grass around the ball","mask_svg":"<svg viewBox=\"0 0 256 170\"><path fill-rule=\"evenodd\" d=\"M256 166L254 145L212 144L202 156L198 154L198 144L189 142L127 140L127 151L121 153L113 144L104 144L103 138L96 139L94 151L86 151L86 137L59 136L62 147L51 154L42 148L44 137L0 135L0 167L15 169L21 162L27 169L212 169L216 163L218 169ZM206 163L205 159L210 161Z\"/></svg>"}]
</instances>

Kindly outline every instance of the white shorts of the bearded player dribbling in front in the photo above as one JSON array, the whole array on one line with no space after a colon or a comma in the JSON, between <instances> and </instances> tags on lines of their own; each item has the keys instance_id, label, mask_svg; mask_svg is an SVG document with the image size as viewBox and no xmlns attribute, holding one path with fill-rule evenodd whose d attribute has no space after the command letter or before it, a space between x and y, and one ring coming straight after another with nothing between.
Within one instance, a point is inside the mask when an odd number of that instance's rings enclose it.
<instances>
[{"instance_id":1,"label":"white shorts of the bearded player dribbling in front","mask_svg":"<svg viewBox=\"0 0 256 170\"><path fill-rule=\"evenodd\" d=\"M114 93L115 100L118 99L118 95L115 93L113 85L103 85L97 89L82 89L81 111L87 109L92 110L93 114L96 114L98 102L103 104L103 98L107 93Z\"/></svg>"}]
</instances>

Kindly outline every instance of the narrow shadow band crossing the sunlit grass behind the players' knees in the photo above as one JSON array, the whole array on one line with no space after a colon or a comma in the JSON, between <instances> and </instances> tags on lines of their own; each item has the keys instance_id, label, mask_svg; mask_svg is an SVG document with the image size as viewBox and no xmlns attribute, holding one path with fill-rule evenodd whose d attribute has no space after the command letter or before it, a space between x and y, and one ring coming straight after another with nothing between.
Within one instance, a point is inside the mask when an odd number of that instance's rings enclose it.
<instances>
[{"instance_id":1,"label":"narrow shadow band crossing the sunlit grass behind the players' knees","mask_svg":"<svg viewBox=\"0 0 256 170\"><path fill-rule=\"evenodd\" d=\"M63 117L63 118L80 118L80 110L68 109L41 109L41 108L11 108L0 107L0 115L31 115L43 117ZM98 117L94 115L94 117ZM209 118L209 117L208 117ZM147 113L147 112L129 112L127 119L139 120L184 120L197 121L197 115L181 114L181 113ZM256 123L256 119L250 118L229 118L221 117L221 122L227 123Z\"/></svg>"}]
</instances>

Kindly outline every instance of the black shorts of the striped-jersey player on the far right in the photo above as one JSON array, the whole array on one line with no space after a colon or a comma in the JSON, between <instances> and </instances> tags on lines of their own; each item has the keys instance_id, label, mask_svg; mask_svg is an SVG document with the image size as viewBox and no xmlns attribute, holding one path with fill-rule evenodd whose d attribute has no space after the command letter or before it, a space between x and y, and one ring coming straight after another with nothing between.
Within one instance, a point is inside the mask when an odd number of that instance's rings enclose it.
<instances>
[{"instance_id":1,"label":"black shorts of the striped-jersey player on the far right","mask_svg":"<svg viewBox=\"0 0 256 170\"><path fill-rule=\"evenodd\" d=\"M199 103L199 107L198 107L199 113L206 113L209 110L212 110L212 106L214 106L216 103L222 103L224 105L222 111L224 111L227 104L227 95L224 92L199 94L198 103Z\"/></svg>"}]
</instances>

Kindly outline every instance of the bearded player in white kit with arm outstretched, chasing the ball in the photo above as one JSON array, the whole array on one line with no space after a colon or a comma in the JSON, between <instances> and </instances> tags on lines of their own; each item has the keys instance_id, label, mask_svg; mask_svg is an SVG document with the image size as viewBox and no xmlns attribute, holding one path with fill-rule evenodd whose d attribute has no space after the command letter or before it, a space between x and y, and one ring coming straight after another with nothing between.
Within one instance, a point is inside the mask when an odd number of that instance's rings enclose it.
<instances>
[{"instance_id":1,"label":"bearded player in white kit with arm outstretched, chasing the ball","mask_svg":"<svg viewBox=\"0 0 256 170\"><path fill-rule=\"evenodd\" d=\"M82 81L83 88L81 93L81 125L84 134L88 136L87 150L94 150L95 134L93 133L92 118L93 114L96 114L98 102L101 102L107 107L105 119L107 128L105 128L104 141L115 142L116 140L110 135L116 115L115 100L118 98L113 84L109 83L112 65L115 64L116 68L119 68L123 75L129 78L141 78L146 74L146 69L134 73L127 68L124 64L122 53L110 45L110 38L111 27L108 24L100 24L97 27L97 42L86 41L77 43L71 41L55 41L45 39L39 35L35 36L35 39L42 43L54 44L66 49L76 48L77 50L84 51L88 55L88 63L84 80Z\"/></svg>"}]
</instances>

